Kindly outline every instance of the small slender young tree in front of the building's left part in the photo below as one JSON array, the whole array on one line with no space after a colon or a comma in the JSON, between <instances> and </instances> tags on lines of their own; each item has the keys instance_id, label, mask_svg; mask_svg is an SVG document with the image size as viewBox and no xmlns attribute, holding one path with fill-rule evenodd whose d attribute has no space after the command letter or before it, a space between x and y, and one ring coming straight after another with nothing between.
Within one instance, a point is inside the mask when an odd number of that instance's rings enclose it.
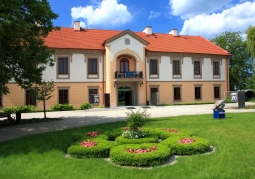
<instances>
[{"instance_id":1,"label":"small slender young tree in front of the building's left part","mask_svg":"<svg viewBox=\"0 0 255 179\"><path fill-rule=\"evenodd\" d=\"M43 101L43 111L44 111L44 118L46 118L46 108L45 104L48 99L50 99L53 95L51 93L55 90L54 89L54 81L49 82L41 82L40 84L34 85L33 92L36 96L36 99L39 101Z\"/></svg>"}]
</instances>

